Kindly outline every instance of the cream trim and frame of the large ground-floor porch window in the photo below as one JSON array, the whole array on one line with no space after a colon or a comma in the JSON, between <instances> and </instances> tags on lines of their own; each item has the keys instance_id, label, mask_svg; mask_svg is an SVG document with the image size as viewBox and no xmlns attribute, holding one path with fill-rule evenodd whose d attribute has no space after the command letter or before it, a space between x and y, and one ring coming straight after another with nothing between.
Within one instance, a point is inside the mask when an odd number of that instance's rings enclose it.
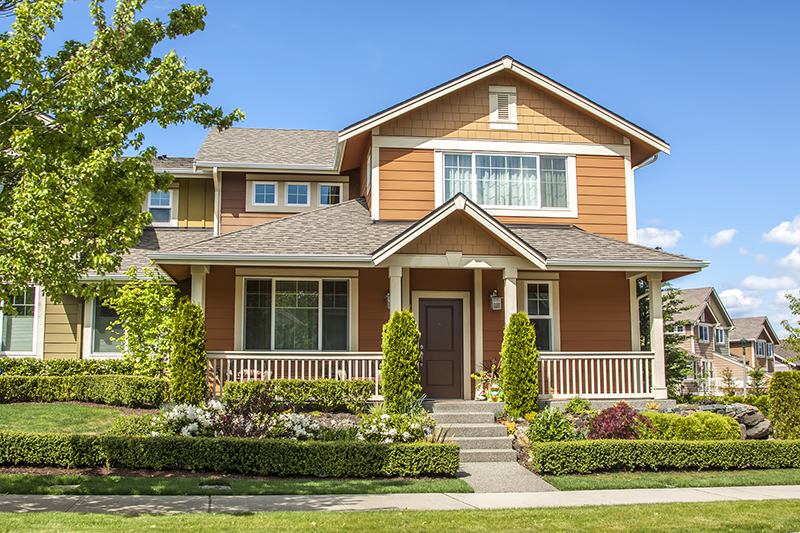
<instances>
[{"instance_id":1,"label":"cream trim and frame of the large ground-floor porch window","mask_svg":"<svg viewBox=\"0 0 800 533\"><path fill-rule=\"evenodd\" d=\"M241 281L238 281L241 280ZM272 283L272 307L270 310L270 332L269 332L269 350L254 350L254 349L246 349L245 348L245 316L247 313L246 309L246 290L247 290L247 282L251 280L256 281L265 281L269 280ZM259 352L274 352L275 350L275 282L276 281L317 281L319 283L319 298L317 300L317 349L316 350L277 350L279 353L282 352L319 352L320 354L331 354L331 353L346 353L352 351L353 343L357 342L355 335L353 333L353 319L357 316L357 308L354 309L354 301L358 300L358 281L357 279L353 278L346 278L346 277L297 277L297 276L272 276L272 277L263 277L263 276L237 276L237 287L236 287L236 311L237 315L234 318L234 326L235 329L239 332L237 335L238 337L238 346L234 346L234 349L237 351L247 351L253 353ZM347 281L347 348L345 350L322 350L322 282L323 281ZM354 288L355 285L355 288Z\"/></svg>"}]
</instances>

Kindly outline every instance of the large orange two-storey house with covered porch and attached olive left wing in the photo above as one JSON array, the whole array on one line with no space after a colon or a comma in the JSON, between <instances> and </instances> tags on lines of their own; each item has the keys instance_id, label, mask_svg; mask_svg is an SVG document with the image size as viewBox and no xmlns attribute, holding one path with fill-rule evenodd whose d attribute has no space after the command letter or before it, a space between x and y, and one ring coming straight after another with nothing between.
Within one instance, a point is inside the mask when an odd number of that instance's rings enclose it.
<instances>
[{"instance_id":1,"label":"large orange two-storey house with covered porch and attached olive left wing","mask_svg":"<svg viewBox=\"0 0 800 533\"><path fill-rule=\"evenodd\" d=\"M504 57L341 131L211 131L149 196L154 224L130 261L152 259L204 308L215 390L335 377L377 393L381 327L409 308L429 398L470 398L470 373L524 311L543 399L663 399L657 289L708 263L635 244L635 171L662 152ZM638 279L653 290L650 352ZM98 302L33 305L35 355L113 349Z\"/></svg>"}]
</instances>

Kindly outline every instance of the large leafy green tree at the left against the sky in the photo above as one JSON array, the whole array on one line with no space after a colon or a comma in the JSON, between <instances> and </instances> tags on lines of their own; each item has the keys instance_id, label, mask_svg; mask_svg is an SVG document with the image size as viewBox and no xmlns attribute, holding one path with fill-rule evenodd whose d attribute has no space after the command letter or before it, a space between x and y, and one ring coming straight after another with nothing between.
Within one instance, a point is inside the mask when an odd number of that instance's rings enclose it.
<instances>
[{"instance_id":1,"label":"large leafy green tree at the left against the sky","mask_svg":"<svg viewBox=\"0 0 800 533\"><path fill-rule=\"evenodd\" d=\"M213 81L189 70L172 51L153 47L202 30L206 9L183 4L169 20L140 17L145 0L118 0L113 16L104 1L90 3L95 36L67 41L52 56L42 41L61 20L63 0L11 0L12 31L0 36L0 300L30 284L58 300L62 294L108 293L107 274L138 243L150 215L149 190L171 177L156 174L156 150L144 125L186 121L226 128L238 109L198 101ZM140 17L137 20L137 17ZM124 153L134 154L122 157Z\"/></svg>"}]
</instances>

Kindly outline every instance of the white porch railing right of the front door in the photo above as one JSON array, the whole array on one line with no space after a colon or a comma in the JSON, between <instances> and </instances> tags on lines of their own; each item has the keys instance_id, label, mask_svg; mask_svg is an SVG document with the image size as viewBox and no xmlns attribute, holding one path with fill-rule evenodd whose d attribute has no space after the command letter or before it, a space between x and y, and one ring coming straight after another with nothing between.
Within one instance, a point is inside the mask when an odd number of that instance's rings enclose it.
<instances>
[{"instance_id":1,"label":"white porch railing right of the front door","mask_svg":"<svg viewBox=\"0 0 800 533\"><path fill-rule=\"evenodd\" d=\"M539 398L653 398L654 359L653 352L542 353Z\"/></svg>"}]
</instances>

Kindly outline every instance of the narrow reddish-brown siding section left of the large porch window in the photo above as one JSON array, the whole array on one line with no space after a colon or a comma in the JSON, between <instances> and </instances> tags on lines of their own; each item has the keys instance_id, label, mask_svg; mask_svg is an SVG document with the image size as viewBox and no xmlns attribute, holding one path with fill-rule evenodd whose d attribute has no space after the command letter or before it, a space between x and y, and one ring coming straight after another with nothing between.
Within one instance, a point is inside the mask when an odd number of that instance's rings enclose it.
<instances>
[{"instance_id":1,"label":"narrow reddish-brown siding section left of the large porch window","mask_svg":"<svg viewBox=\"0 0 800 533\"><path fill-rule=\"evenodd\" d=\"M206 350L233 350L236 267L212 266L206 276Z\"/></svg>"}]
</instances>

